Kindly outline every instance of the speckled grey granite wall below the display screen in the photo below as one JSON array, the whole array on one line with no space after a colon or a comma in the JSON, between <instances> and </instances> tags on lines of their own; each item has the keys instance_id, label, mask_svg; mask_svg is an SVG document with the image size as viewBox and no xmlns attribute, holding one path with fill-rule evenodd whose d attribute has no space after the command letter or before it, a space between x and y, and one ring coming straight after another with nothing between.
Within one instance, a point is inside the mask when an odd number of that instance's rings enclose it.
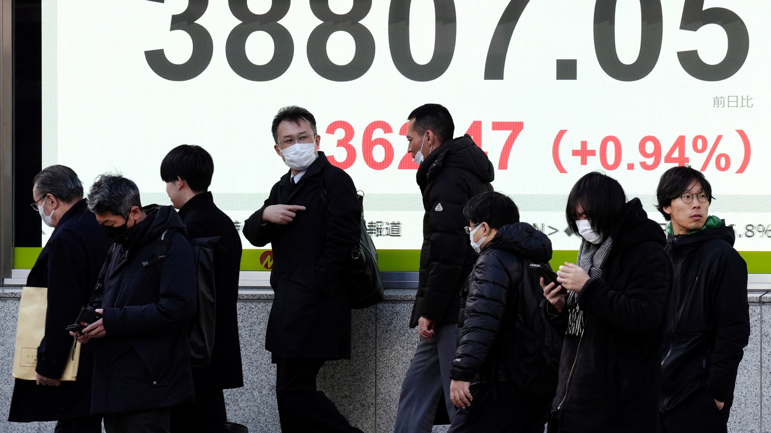
<instances>
[{"instance_id":1,"label":"speckled grey granite wall below the display screen","mask_svg":"<svg viewBox=\"0 0 771 433\"><path fill-rule=\"evenodd\" d=\"M412 290L388 290L388 299L366 310L355 310L352 358L329 362L319 374L318 387L335 401L352 425L367 433L392 431L399 390L418 341L406 324L412 307ZM52 423L8 423L13 389L11 364L19 294L0 291L0 431L53 431ZM278 433L274 398L275 368L264 351L265 324L271 308L267 291L243 290L238 304L244 388L228 390L231 421L247 425L253 433ZM749 294L752 334L736 382L736 403L729 431L771 431L771 292ZM764 326L765 324L765 326ZM434 431L445 431L436 427Z\"/></svg>"}]
</instances>

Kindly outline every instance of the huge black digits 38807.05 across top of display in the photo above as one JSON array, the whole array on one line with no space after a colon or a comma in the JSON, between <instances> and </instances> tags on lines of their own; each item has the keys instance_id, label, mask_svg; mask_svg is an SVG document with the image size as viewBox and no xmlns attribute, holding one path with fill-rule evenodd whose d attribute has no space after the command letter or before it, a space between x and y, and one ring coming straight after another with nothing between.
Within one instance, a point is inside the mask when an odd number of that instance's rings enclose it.
<instances>
[{"instance_id":1,"label":"huge black digits 38807.05 across top of display","mask_svg":"<svg viewBox=\"0 0 771 433\"><path fill-rule=\"evenodd\" d=\"M163 3L164 0L150 0ZM639 0L641 9L641 39L638 58L631 64L618 59L615 44L615 11L618 0L596 0L594 3L594 52L603 71L619 81L637 81L648 76L658 63L662 50L663 17L661 0ZM375 39L361 23L372 8L372 0L355 0L345 14L335 14L329 0L309 0L311 12L322 20L308 37L306 46L311 68L325 79L352 81L363 76L375 59ZM412 0L391 0L389 5L389 49L396 69L407 79L423 82L437 79L446 72L456 45L456 8L454 0L433 0L435 39L431 60L420 65L412 58L409 44L409 11ZM501 14L487 48L484 79L501 80L513 32L530 0L510 0ZM204 15L208 0L188 0L187 8L171 16L170 31L182 30L190 36L193 50L187 62L177 64L167 59L163 49L145 51L147 65L158 76L171 81L186 81L199 76L211 62L214 44L211 35L196 21ZM287 15L291 0L273 0L264 14L255 14L247 0L228 0L231 13L241 21L227 36L227 62L238 76L251 81L270 81L282 76L291 66L295 42L284 25L278 23ZM678 52L682 69L702 81L720 81L739 72L749 53L749 33L739 15L726 8L704 8L704 0L685 0L680 29L696 32L705 25L720 25L726 32L726 57L716 65L702 61L697 50ZM274 52L271 60L256 65L247 58L246 42L254 32L271 36ZM332 33L346 32L355 42L355 54L346 65L329 59L327 42ZM558 61L559 62L559 61ZM571 61L575 62L575 61ZM573 63L573 69L574 69ZM573 72L571 72L574 74ZM570 75L570 74L568 74ZM558 79L560 73L557 73ZM575 79L573 78L569 79Z\"/></svg>"}]
</instances>

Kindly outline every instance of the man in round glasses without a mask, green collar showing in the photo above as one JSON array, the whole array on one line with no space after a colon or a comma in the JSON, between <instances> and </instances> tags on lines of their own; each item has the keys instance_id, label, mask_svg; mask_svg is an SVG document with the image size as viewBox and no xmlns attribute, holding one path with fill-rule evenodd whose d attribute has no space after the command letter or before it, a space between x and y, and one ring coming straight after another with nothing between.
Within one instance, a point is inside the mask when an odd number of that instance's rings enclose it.
<instances>
[{"instance_id":1,"label":"man in round glasses without a mask, green collar showing","mask_svg":"<svg viewBox=\"0 0 771 433\"><path fill-rule=\"evenodd\" d=\"M673 271L658 431L725 433L749 340L747 263L733 249L733 228L709 215L712 186L701 172L667 170L656 196L670 221Z\"/></svg>"}]
</instances>

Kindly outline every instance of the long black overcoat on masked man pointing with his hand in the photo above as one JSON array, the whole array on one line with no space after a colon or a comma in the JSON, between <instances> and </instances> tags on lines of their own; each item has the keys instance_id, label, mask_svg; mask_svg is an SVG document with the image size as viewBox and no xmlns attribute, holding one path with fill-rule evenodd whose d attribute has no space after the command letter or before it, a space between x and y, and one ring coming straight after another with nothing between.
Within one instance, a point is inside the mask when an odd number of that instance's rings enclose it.
<instances>
[{"instance_id":1,"label":"long black overcoat on masked man pointing with his hand","mask_svg":"<svg viewBox=\"0 0 771 433\"><path fill-rule=\"evenodd\" d=\"M274 300L265 349L293 359L351 357L351 308L341 282L351 250L361 237L362 206L351 176L324 153L291 188L291 171L273 186L264 206L244 223L254 246L271 243ZM322 198L323 191L326 199ZM263 223L274 204L305 206L288 224Z\"/></svg>"}]
</instances>

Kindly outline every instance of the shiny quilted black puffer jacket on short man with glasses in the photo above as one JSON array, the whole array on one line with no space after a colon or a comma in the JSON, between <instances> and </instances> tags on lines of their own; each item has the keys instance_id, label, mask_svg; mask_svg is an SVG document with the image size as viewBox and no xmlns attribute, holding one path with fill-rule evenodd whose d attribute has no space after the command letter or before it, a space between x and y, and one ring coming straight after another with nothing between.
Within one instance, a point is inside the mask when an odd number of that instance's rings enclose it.
<instances>
[{"instance_id":1,"label":"shiny quilted black puffer jacket on short man with glasses","mask_svg":"<svg viewBox=\"0 0 771 433\"><path fill-rule=\"evenodd\" d=\"M551 260L549 237L528 223L501 227L476 259L461 292L464 307L458 318L458 348L450 378L470 382L477 374L502 377L500 371L491 371L510 362L506 357L511 351L500 347L501 332L513 333L521 293L533 289L524 287L523 273L530 270L523 258L541 263Z\"/></svg>"}]
</instances>

